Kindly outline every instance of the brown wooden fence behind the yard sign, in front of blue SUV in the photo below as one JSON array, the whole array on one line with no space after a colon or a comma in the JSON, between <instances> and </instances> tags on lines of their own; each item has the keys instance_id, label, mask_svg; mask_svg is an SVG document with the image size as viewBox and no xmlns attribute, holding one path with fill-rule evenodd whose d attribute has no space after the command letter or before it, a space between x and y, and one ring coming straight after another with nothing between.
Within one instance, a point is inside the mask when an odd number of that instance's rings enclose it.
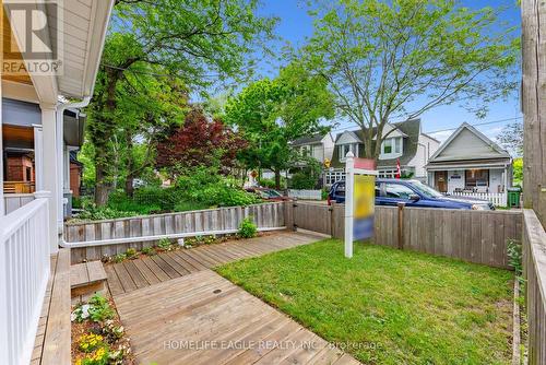
<instances>
[{"instance_id":1,"label":"brown wooden fence behind the yard sign, in front of blue SUV","mask_svg":"<svg viewBox=\"0 0 546 365\"><path fill-rule=\"evenodd\" d=\"M287 225L343 239L343 204L296 202L292 209L294 220ZM378 245L509 268L507 242L521 240L522 213L376 207L375 232Z\"/></svg>"}]
</instances>

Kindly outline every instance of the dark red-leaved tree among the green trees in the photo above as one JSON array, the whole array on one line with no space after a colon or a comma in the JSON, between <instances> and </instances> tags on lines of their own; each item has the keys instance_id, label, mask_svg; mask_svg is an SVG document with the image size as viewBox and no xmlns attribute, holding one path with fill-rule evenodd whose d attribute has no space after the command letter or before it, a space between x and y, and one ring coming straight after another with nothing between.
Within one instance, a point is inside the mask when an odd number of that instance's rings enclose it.
<instances>
[{"instance_id":1,"label":"dark red-leaved tree among the green trees","mask_svg":"<svg viewBox=\"0 0 546 365\"><path fill-rule=\"evenodd\" d=\"M246 146L219 119L209 120L201 108L193 108L183 125L158 143L156 166L171 176L198 166L215 166L227 175Z\"/></svg>"}]
</instances>

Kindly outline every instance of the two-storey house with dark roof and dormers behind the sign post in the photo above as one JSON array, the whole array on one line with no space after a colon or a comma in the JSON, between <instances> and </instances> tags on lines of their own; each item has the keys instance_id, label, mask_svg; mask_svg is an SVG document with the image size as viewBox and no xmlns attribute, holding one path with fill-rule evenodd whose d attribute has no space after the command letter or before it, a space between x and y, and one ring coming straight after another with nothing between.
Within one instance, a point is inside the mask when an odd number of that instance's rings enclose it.
<instances>
[{"instance_id":1,"label":"two-storey house with dark roof and dormers behind the sign post","mask_svg":"<svg viewBox=\"0 0 546 365\"><path fill-rule=\"evenodd\" d=\"M439 148L440 142L422 132L420 119L389 123L383 133L387 139L381 143L381 152L377 161L379 177L394 177L400 161L402 175L412 176L422 181L427 180L425 165ZM361 130L347 130L335 139L332 164L325 174L327 186L345 177L345 156L348 152L355 156L364 156L364 138Z\"/></svg>"}]
</instances>

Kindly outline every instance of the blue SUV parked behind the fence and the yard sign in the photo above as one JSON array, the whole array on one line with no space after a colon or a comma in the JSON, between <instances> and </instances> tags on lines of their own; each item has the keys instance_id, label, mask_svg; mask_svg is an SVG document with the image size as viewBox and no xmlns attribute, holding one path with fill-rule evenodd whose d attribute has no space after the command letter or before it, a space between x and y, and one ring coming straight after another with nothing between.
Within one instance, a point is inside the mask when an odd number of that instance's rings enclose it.
<instances>
[{"instance_id":1,"label":"blue SUV parked behind the fence and the yard sign","mask_svg":"<svg viewBox=\"0 0 546 365\"><path fill-rule=\"evenodd\" d=\"M328 195L328 202L331 201L345 202L344 180L332 185ZM376 205L396 205L400 202L406 207L417 208L495 210L495 205L486 200L444 196L417 180L381 178L376 180Z\"/></svg>"}]
</instances>

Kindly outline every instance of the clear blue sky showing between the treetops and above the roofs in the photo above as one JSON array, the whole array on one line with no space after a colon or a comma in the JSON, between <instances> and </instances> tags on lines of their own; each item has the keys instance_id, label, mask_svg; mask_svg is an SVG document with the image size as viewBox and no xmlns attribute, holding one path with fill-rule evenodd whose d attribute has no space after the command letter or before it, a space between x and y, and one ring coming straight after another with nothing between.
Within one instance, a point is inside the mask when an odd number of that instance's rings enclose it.
<instances>
[{"instance_id":1,"label":"clear blue sky showing between the treetops and above the roofs","mask_svg":"<svg viewBox=\"0 0 546 365\"><path fill-rule=\"evenodd\" d=\"M501 14L500 20L507 22L510 26L520 26L521 24L520 10L515 4L515 0L461 0L460 2L468 8L505 5L508 9ZM262 15L278 16L280 23L276 28L276 34L295 47L304 45L306 37L312 35L312 19L307 14L305 4L300 0L262 0L260 13ZM278 64L272 64L271 60L263 60L260 63L261 74L275 76L277 72ZM519 117L521 118L520 102L518 93L515 92L514 95L506 102L499 101L495 104L490 104L489 113L484 119L476 118L474 114L468 113L458 105L441 106L431 109L422 115L420 119L424 132L435 132L432 137L440 141L444 141L453 130L464 121L476 125ZM495 140L502 127L513 121L514 120L492 122L477 126L476 128ZM351 123L344 122L341 128L349 126Z\"/></svg>"}]
</instances>

